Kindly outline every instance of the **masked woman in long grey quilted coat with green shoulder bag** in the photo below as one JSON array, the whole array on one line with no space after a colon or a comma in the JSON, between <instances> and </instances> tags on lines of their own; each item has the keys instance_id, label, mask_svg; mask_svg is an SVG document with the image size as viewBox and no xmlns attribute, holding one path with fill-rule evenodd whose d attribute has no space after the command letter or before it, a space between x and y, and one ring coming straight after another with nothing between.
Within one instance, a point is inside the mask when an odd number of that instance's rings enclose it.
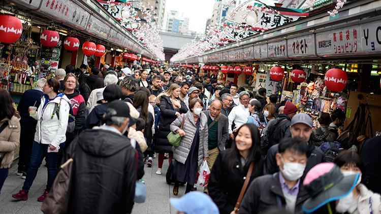
<instances>
[{"instance_id":1,"label":"masked woman in long grey quilted coat with green shoulder bag","mask_svg":"<svg viewBox=\"0 0 381 214\"><path fill-rule=\"evenodd\" d=\"M185 194L195 190L193 186L198 167L208 157L208 119L202 109L201 99L194 98L189 102L189 111L171 124L171 131L182 137L180 145L173 150L173 173L176 177L174 195L179 192L180 182L186 182ZM184 124L180 129L183 120Z\"/></svg>"}]
</instances>

